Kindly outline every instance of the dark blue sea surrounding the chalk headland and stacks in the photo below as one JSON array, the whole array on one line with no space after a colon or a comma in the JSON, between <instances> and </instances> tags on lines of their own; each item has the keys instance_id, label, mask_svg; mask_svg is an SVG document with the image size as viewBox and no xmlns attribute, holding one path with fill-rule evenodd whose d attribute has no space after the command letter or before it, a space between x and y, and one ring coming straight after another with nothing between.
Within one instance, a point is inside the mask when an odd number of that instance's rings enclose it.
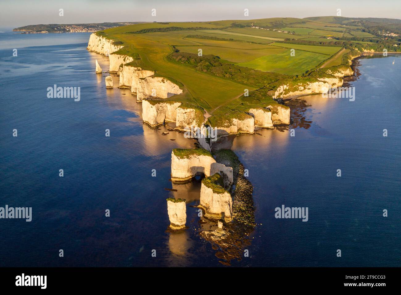
<instances>
[{"instance_id":1,"label":"dark blue sea surrounding the chalk headland and stacks","mask_svg":"<svg viewBox=\"0 0 401 295\"><path fill-rule=\"evenodd\" d=\"M196 208L188 230L166 232L171 151L194 141L162 136L142 124L130 91L106 90L95 59L104 70L107 58L88 40L0 34L0 207L32 207L31 222L0 219L0 266L222 266L199 238ZM257 222L234 266L401 266L401 57L359 63L354 102L305 96L310 127L290 126L294 137L227 140L249 169ZM47 98L54 84L81 87L81 100ZM199 198L198 182L173 188L188 205ZM283 204L308 207L308 222L275 219Z\"/></svg>"}]
</instances>

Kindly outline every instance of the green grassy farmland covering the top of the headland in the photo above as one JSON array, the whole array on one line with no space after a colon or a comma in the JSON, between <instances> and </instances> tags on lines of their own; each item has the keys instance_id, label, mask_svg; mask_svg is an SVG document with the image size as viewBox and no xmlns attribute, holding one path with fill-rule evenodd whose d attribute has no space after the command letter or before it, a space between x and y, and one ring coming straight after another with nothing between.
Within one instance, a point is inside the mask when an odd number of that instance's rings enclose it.
<instances>
[{"instance_id":1,"label":"green grassy farmland covering the top of the headland","mask_svg":"<svg viewBox=\"0 0 401 295\"><path fill-rule=\"evenodd\" d=\"M171 100L213 115L274 103L268 92L280 83L313 81L325 74L320 67L342 65L342 57L355 55L355 47L380 49L377 43L385 41L363 32L370 28L361 24L364 22L336 17L152 22L97 34L123 44L115 54L132 56L130 65L176 83L183 93ZM348 39L375 40L342 41L343 34ZM335 47L328 46L334 42ZM199 49L202 56L198 56ZM295 56L291 56L291 49L295 49ZM243 96L245 89L249 97Z\"/></svg>"}]
</instances>

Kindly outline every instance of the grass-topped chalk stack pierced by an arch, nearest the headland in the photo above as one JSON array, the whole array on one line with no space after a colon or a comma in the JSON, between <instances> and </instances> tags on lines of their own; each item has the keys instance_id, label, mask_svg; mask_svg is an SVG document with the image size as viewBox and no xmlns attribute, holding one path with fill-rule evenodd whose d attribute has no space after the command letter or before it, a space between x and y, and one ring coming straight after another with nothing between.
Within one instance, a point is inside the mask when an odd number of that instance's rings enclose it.
<instances>
[{"instance_id":1,"label":"grass-topped chalk stack pierced by an arch, nearest the headland","mask_svg":"<svg viewBox=\"0 0 401 295\"><path fill-rule=\"evenodd\" d=\"M216 163L211 153L205 149L174 149L171 153L171 180L185 182L203 173L206 177L212 173L224 174L227 185L233 183L233 169Z\"/></svg>"}]
</instances>

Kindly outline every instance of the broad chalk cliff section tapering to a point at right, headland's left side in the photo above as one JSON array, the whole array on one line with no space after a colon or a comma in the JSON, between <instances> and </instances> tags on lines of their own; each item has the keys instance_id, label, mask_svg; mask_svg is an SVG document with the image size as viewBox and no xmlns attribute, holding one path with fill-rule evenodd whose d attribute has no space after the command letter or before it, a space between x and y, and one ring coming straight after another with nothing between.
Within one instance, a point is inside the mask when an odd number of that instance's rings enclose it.
<instances>
[{"instance_id":1,"label":"broad chalk cliff section tapering to a point at right, headland's left side","mask_svg":"<svg viewBox=\"0 0 401 295\"><path fill-rule=\"evenodd\" d=\"M140 78L137 101L148 98L170 98L180 93L182 93L180 87L164 77Z\"/></svg>"}]
</instances>

